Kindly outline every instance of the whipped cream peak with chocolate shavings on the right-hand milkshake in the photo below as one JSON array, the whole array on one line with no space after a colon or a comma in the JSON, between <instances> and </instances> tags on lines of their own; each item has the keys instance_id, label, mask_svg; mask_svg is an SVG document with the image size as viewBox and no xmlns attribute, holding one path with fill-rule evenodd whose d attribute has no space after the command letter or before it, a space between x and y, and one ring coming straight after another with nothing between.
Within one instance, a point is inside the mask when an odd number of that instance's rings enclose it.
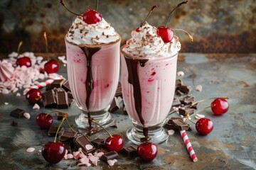
<instances>
[{"instance_id":1,"label":"whipped cream peak with chocolate shavings on the right-hand milkshake","mask_svg":"<svg viewBox=\"0 0 256 170\"><path fill-rule=\"evenodd\" d=\"M122 47L122 51L132 57L157 58L170 57L176 55L181 50L181 43L178 37L174 35L171 42L164 43L159 35L156 34L157 28L150 26L145 22L139 28L139 32L133 30L132 38L127 40L126 45Z\"/></svg>"}]
</instances>

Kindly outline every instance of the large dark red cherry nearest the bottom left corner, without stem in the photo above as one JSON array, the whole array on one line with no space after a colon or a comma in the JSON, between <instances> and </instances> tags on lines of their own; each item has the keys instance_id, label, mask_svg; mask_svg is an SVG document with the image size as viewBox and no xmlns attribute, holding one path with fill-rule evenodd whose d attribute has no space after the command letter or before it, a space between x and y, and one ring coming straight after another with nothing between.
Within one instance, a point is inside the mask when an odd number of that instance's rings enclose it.
<instances>
[{"instance_id":1,"label":"large dark red cherry nearest the bottom left corner, without stem","mask_svg":"<svg viewBox=\"0 0 256 170\"><path fill-rule=\"evenodd\" d=\"M61 142L48 142L43 145L43 158L50 164L57 164L65 156L65 145Z\"/></svg>"}]
</instances>

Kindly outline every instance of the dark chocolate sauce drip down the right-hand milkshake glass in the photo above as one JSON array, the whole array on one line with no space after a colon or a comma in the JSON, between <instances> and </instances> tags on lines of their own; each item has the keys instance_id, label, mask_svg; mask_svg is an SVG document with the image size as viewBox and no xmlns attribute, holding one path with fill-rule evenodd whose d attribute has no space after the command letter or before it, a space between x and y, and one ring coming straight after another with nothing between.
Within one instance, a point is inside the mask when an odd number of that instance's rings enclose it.
<instances>
[{"instance_id":1,"label":"dark chocolate sauce drip down the right-hand milkshake glass","mask_svg":"<svg viewBox=\"0 0 256 170\"><path fill-rule=\"evenodd\" d=\"M149 129L147 127L144 127L145 121L144 121L144 118L142 117L142 91L139 84L139 76L138 76L138 69L137 69L138 62L141 67L144 67L148 59L132 59L131 57L126 57L126 56L124 56L124 59L125 59L125 62L127 63L128 82L129 84L132 84L134 89L133 96L134 96L135 109L139 116L139 121L143 125L143 134L145 136L145 139L149 140L149 135L148 135Z\"/></svg>"}]
</instances>

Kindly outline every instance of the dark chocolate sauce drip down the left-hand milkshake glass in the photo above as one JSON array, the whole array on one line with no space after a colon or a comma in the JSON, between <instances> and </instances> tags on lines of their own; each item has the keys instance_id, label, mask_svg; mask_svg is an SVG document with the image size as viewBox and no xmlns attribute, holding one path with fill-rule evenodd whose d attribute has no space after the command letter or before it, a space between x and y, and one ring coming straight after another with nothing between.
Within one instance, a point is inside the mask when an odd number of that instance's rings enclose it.
<instances>
[{"instance_id":1,"label":"dark chocolate sauce drip down the left-hand milkshake glass","mask_svg":"<svg viewBox=\"0 0 256 170\"><path fill-rule=\"evenodd\" d=\"M92 78L92 55L98 52L101 47L80 47L81 50L85 53L87 59L87 75L85 81L85 88L86 88L86 99L85 105L87 107L87 116L88 116L88 123L90 127L92 126L91 117L90 117L90 94L92 93L92 89L94 88L93 85L93 78Z\"/></svg>"}]
</instances>

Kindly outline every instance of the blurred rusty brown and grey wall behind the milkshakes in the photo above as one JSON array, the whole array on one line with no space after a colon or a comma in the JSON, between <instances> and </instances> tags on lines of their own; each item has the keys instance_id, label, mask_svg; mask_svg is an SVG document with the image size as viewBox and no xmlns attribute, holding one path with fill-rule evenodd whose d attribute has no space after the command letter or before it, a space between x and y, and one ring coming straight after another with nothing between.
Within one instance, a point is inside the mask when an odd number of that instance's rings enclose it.
<instances>
[{"instance_id":1,"label":"blurred rusty brown and grey wall behind the milkshakes","mask_svg":"<svg viewBox=\"0 0 256 170\"><path fill-rule=\"evenodd\" d=\"M157 5L148 22L164 25L169 11L182 0L100 0L99 11L122 35L123 43L132 29L144 20L151 6ZM82 13L95 8L96 0L66 0L69 8ZM194 42L181 32L182 52L256 52L256 0L188 0L172 15L171 28L182 28L193 35ZM64 35L75 16L65 11L59 0L0 0L0 52L16 50L45 52L43 31L48 33L49 51L65 52Z\"/></svg>"}]
</instances>

